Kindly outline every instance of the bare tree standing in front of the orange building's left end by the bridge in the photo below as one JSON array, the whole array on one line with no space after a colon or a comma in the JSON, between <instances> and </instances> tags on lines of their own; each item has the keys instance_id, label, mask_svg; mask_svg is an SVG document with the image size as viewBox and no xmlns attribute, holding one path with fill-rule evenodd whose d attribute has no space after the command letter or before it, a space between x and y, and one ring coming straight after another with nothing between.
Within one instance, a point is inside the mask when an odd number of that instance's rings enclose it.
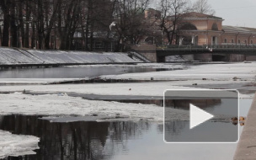
<instances>
[{"instance_id":1,"label":"bare tree standing in front of the orange building's left end by the bridge","mask_svg":"<svg viewBox=\"0 0 256 160\"><path fill-rule=\"evenodd\" d=\"M177 43L174 38L179 31L178 26L183 23L184 13L189 12L188 4L188 0L161 0L159 27L163 35L166 35L169 45Z\"/></svg>"}]
</instances>

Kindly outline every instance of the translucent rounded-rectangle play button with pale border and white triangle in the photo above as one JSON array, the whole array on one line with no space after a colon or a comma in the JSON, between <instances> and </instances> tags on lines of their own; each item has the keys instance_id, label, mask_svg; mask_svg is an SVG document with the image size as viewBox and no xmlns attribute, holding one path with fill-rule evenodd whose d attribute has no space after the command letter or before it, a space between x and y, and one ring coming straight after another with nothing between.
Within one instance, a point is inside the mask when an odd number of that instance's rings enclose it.
<instances>
[{"instance_id":1,"label":"translucent rounded-rectangle play button with pale border and white triangle","mask_svg":"<svg viewBox=\"0 0 256 160\"><path fill-rule=\"evenodd\" d=\"M166 90L163 140L167 143L238 141L237 90Z\"/></svg>"}]
</instances>

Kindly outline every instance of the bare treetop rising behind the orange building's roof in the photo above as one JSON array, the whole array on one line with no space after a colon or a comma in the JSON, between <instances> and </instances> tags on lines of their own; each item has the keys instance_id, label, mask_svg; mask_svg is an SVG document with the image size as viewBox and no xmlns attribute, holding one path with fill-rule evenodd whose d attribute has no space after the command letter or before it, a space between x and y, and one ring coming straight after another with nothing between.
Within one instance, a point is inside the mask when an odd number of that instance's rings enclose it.
<instances>
[{"instance_id":1,"label":"bare treetop rising behind the orange building's roof","mask_svg":"<svg viewBox=\"0 0 256 160\"><path fill-rule=\"evenodd\" d=\"M214 15L216 12L211 8L211 5L208 3L208 0L197 0L193 3L192 10L197 13L205 13Z\"/></svg>"}]
</instances>

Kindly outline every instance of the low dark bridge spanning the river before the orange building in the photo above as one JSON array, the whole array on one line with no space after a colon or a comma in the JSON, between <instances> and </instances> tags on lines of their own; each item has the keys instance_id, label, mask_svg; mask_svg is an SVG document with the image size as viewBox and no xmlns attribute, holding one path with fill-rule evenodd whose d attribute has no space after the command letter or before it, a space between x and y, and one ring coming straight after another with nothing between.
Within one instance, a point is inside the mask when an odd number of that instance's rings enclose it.
<instances>
[{"instance_id":1,"label":"low dark bridge spanning the river before the orange building","mask_svg":"<svg viewBox=\"0 0 256 160\"><path fill-rule=\"evenodd\" d=\"M141 45L133 49L155 62L176 55L193 55L199 61L245 61L255 56L256 61L256 45Z\"/></svg>"}]
</instances>

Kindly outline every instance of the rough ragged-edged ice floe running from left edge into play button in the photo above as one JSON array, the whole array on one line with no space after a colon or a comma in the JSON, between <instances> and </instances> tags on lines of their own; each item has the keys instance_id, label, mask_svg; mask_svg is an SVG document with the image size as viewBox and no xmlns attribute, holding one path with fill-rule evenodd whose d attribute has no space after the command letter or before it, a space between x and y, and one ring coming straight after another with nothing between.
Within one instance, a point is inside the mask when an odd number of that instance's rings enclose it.
<instances>
[{"instance_id":1,"label":"rough ragged-edged ice floe running from left edge into play button","mask_svg":"<svg viewBox=\"0 0 256 160\"><path fill-rule=\"evenodd\" d=\"M69 97L65 94L28 95L1 94L0 115L99 115L109 119L128 117L130 120L163 121L163 107L152 104L123 104ZM172 120L187 120L188 111L172 109ZM185 118L185 119L184 119Z\"/></svg>"}]
</instances>

